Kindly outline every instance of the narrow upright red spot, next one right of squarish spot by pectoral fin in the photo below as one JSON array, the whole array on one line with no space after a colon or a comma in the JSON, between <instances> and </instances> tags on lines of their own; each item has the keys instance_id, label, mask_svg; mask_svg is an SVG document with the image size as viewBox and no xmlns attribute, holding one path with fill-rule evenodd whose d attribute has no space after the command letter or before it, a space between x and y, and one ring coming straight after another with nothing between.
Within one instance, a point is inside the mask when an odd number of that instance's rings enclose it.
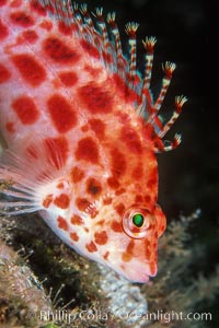
<instances>
[{"instance_id":1,"label":"narrow upright red spot, next one right of squarish spot by pectoral fin","mask_svg":"<svg viewBox=\"0 0 219 328\"><path fill-rule=\"evenodd\" d=\"M126 172L126 159L124 154L116 148L111 151L111 169L115 177L120 177Z\"/></svg>"}]
</instances>

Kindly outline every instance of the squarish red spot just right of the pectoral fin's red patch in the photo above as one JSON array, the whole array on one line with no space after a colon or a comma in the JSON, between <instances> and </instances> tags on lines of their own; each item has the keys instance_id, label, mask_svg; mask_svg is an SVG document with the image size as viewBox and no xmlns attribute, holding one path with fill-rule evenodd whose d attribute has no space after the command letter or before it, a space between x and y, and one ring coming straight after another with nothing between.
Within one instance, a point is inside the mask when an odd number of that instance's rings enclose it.
<instances>
[{"instance_id":1,"label":"squarish red spot just right of the pectoral fin's red patch","mask_svg":"<svg viewBox=\"0 0 219 328\"><path fill-rule=\"evenodd\" d=\"M87 137L79 141L78 148L76 150L76 159L97 164L99 149L92 138Z\"/></svg>"}]
</instances>

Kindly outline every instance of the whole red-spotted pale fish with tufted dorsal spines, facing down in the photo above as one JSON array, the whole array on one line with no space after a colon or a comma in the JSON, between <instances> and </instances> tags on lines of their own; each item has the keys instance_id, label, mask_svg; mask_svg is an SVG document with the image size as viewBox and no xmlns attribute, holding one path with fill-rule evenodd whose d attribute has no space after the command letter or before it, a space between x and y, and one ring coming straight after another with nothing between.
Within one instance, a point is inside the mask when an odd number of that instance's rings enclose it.
<instances>
[{"instance_id":1,"label":"whole red-spotted pale fish with tufted dorsal spines, facing down","mask_svg":"<svg viewBox=\"0 0 219 328\"><path fill-rule=\"evenodd\" d=\"M129 58L115 13L95 17L85 4L0 0L0 211L38 211L79 254L126 279L157 273L165 215L158 201L155 153L181 141L162 137L184 96L162 124L159 109L175 66L163 66L153 102L154 37L143 42L146 71L136 69L138 24L126 25Z\"/></svg>"}]
</instances>

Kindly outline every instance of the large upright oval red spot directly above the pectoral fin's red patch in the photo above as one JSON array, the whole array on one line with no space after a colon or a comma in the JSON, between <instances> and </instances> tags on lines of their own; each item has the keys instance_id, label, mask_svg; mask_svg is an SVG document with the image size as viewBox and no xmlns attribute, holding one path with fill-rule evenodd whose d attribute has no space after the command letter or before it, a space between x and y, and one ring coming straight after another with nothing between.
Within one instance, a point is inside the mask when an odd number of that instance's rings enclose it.
<instances>
[{"instance_id":1,"label":"large upright oval red spot directly above the pectoral fin's red patch","mask_svg":"<svg viewBox=\"0 0 219 328\"><path fill-rule=\"evenodd\" d=\"M58 132L68 132L76 126L76 112L62 95L54 94L48 99L47 105L53 122Z\"/></svg>"}]
</instances>

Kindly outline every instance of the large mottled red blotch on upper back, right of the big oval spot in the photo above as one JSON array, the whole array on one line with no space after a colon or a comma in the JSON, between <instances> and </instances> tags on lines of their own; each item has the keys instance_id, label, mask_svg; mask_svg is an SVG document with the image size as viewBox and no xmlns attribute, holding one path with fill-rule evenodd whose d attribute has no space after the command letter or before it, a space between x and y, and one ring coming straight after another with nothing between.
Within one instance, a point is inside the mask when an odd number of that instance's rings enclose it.
<instances>
[{"instance_id":1,"label":"large mottled red blotch on upper back, right of the big oval spot","mask_svg":"<svg viewBox=\"0 0 219 328\"><path fill-rule=\"evenodd\" d=\"M113 110L113 99L103 86L90 82L79 89L79 98L81 103L92 114L108 114Z\"/></svg>"}]
</instances>

